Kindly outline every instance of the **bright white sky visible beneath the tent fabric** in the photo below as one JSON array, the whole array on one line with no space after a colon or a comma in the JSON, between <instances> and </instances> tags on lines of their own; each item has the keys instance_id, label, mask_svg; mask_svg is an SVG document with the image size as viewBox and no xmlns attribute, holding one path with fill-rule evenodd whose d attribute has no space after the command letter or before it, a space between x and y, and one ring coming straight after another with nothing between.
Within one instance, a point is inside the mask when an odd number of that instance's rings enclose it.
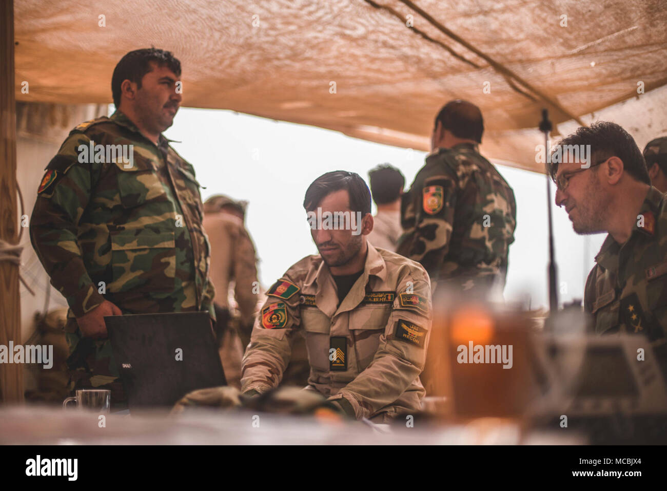
<instances>
[{"instance_id":1,"label":"bright white sky visible beneath the tent fabric","mask_svg":"<svg viewBox=\"0 0 667 491\"><path fill-rule=\"evenodd\" d=\"M389 162L402 170L408 188L426 155L224 110L181 108L165 136L182 142L172 146L194 166L197 179L206 186L201 191L203 200L221 193L249 201L246 226L260 258L259 280L264 287L302 257L317 253L301 206L307 186L317 176L329 170L350 170L368 182L368 170ZM546 307L545 177L506 166L498 170L514 188L517 202L505 299L525 307L530 299L532 309ZM588 240L576 235L565 211L555 206L554 230L560 300L581 299L586 274L604 235Z\"/></svg>"}]
</instances>

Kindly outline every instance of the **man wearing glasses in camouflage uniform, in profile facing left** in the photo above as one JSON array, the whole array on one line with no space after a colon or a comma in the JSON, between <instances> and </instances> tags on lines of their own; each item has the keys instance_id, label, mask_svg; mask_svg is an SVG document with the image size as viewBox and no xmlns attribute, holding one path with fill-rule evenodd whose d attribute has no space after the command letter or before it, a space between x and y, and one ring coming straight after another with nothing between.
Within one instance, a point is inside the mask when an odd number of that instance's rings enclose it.
<instances>
[{"instance_id":1,"label":"man wearing glasses in camouflage uniform, in profile facing left","mask_svg":"<svg viewBox=\"0 0 667 491\"><path fill-rule=\"evenodd\" d=\"M588 162L556 152L548 170L574 231L608 232L586 281L584 310L597 334L646 335L667 375L667 198L651 186L642 152L618 124L579 128L559 144L580 145L590 145Z\"/></svg>"}]
</instances>

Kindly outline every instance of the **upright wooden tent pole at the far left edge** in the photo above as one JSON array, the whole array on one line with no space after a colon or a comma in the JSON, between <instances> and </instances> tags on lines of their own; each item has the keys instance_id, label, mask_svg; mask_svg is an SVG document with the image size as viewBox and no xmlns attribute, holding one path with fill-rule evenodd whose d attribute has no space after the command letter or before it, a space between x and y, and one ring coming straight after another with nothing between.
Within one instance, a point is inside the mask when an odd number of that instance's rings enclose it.
<instances>
[{"instance_id":1,"label":"upright wooden tent pole at the far left edge","mask_svg":"<svg viewBox=\"0 0 667 491\"><path fill-rule=\"evenodd\" d=\"M18 241L13 0L0 1L0 137L0 239L13 245ZM9 341L21 344L19 265L0 261L0 345L9 349ZM5 403L23 402L23 364L0 363L0 396Z\"/></svg>"}]
</instances>

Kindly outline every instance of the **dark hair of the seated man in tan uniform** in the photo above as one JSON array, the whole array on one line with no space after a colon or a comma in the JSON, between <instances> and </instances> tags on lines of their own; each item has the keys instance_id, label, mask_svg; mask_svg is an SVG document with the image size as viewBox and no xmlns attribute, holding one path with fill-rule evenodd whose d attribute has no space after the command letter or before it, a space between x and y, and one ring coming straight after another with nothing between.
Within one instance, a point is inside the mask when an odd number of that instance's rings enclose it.
<instances>
[{"instance_id":1,"label":"dark hair of the seated man in tan uniform","mask_svg":"<svg viewBox=\"0 0 667 491\"><path fill-rule=\"evenodd\" d=\"M333 170L315 179L305 191L303 208L313 211L325 196L341 189L350 195L350 210L360 211L362 216L371 212L371 192L366 181L356 172L346 170Z\"/></svg>"}]
</instances>

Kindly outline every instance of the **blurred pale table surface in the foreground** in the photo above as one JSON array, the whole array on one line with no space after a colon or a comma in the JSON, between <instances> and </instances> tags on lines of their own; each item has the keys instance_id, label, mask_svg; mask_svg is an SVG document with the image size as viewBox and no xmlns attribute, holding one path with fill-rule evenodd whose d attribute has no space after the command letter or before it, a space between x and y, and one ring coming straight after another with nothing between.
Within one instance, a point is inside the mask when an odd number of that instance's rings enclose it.
<instances>
[{"instance_id":1,"label":"blurred pale table surface in the foreground","mask_svg":"<svg viewBox=\"0 0 667 491\"><path fill-rule=\"evenodd\" d=\"M565 432L523 432L516 422L486 418L466 424L413 428L370 426L364 422L316 420L306 416L247 410L192 408L183 414L151 411L135 415L99 414L23 405L0 409L3 445L438 445L584 444Z\"/></svg>"}]
</instances>

